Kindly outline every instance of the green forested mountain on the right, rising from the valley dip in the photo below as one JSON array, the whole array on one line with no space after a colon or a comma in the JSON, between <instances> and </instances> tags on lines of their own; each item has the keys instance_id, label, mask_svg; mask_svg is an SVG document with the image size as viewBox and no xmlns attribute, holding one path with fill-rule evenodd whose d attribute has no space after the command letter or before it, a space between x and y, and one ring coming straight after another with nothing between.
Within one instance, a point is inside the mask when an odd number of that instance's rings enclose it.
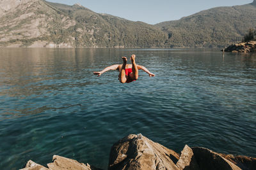
<instances>
[{"instance_id":1,"label":"green forested mountain on the right, rising from the valley dip","mask_svg":"<svg viewBox=\"0 0 256 170\"><path fill-rule=\"evenodd\" d=\"M165 45L211 47L241 41L256 25L256 0L251 4L200 11L180 20L156 24L168 34Z\"/></svg>"}]
</instances>

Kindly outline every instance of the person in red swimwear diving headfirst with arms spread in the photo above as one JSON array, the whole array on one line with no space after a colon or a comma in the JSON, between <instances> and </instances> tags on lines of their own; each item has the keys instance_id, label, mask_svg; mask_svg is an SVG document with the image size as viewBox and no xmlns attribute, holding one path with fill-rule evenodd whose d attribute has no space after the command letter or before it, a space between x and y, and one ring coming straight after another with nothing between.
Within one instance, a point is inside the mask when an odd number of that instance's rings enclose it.
<instances>
[{"instance_id":1,"label":"person in red swimwear diving headfirst with arms spread","mask_svg":"<svg viewBox=\"0 0 256 170\"><path fill-rule=\"evenodd\" d=\"M93 74L100 76L101 74L105 73L106 71L109 70L118 70L119 71L119 76L118 79L120 83L130 83L131 81L135 81L138 79L139 76L139 69L142 69L148 75L155 76L155 74L151 73L148 71L148 69L144 66L137 65L135 62L135 55L131 56L131 62L132 64L127 64L127 58L122 57L123 59L123 64L115 64L109 67L104 68L102 71L99 72L93 72Z\"/></svg>"}]
</instances>

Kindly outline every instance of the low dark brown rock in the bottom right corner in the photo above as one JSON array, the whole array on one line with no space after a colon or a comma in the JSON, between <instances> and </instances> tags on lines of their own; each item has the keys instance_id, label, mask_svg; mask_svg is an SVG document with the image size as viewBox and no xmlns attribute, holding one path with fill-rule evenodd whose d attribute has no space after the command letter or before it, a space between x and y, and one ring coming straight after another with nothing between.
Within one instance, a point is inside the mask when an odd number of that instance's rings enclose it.
<instances>
[{"instance_id":1,"label":"low dark brown rock in the bottom right corner","mask_svg":"<svg viewBox=\"0 0 256 170\"><path fill-rule=\"evenodd\" d=\"M234 155L225 155L220 153L221 157L229 160L236 166L240 167L241 169L253 170L256 169L256 158L246 157L246 156L234 156Z\"/></svg>"}]
</instances>

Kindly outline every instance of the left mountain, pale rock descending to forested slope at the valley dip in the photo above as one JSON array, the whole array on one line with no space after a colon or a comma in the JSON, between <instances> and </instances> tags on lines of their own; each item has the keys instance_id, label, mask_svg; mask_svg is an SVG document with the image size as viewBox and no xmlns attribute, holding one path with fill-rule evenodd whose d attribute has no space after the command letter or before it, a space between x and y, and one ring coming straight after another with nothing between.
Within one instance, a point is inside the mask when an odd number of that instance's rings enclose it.
<instances>
[{"instance_id":1,"label":"left mountain, pale rock descending to forested slope at the valley dip","mask_svg":"<svg viewBox=\"0 0 256 170\"><path fill-rule=\"evenodd\" d=\"M166 39L154 25L95 13L79 4L2 0L0 9L1 46L158 47Z\"/></svg>"}]
</instances>

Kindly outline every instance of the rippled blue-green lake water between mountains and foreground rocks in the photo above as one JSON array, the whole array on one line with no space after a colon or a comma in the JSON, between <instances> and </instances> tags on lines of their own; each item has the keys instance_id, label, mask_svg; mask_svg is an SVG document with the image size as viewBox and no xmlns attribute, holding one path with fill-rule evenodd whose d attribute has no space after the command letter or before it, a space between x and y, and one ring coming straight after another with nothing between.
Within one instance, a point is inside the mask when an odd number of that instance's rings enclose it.
<instances>
[{"instance_id":1,"label":"rippled blue-green lake water between mountains and foreground rocks","mask_svg":"<svg viewBox=\"0 0 256 170\"><path fill-rule=\"evenodd\" d=\"M100 71L137 55L129 84ZM0 48L0 169L52 155L106 169L110 148L141 133L180 152L184 145L256 157L256 55L179 49Z\"/></svg>"}]
</instances>

